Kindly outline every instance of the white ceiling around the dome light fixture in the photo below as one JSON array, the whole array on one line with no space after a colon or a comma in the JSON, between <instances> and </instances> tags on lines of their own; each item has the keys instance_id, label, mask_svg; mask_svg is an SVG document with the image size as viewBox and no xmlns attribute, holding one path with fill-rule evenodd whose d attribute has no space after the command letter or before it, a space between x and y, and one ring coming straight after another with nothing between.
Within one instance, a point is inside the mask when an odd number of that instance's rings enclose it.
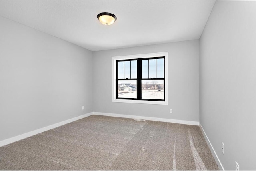
<instances>
[{"instance_id":1,"label":"white ceiling around the dome light fixture","mask_svg":"<svg viewBox=\"0 0 256 171\"><path fill-rule=\"evenodd\" d=\"M0 16L92 51L199 39L215 0L0 0ZM117 16L110 26L97 14Z\"/></svg>"}]
</instances>

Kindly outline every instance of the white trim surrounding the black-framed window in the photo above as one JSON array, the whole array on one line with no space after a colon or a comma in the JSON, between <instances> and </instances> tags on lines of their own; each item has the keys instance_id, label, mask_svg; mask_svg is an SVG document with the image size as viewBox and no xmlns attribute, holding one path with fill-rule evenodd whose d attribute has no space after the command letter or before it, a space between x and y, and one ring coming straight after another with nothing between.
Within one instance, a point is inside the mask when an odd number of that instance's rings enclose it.
<instances>
[{"instance_id":1,"label":"white trim surrounding the black-framed window","mask_svg":"<svg viewBox=\"0 0 256 171\"><path fill-rule=\"evenodd\" d=\"M120 103L142 103L142 104L155 104L155 105L168 105L168 53L169 52L158 52L152 54L138 54L138 55L128 55L128 56L113 56L112 57L112 102ZM148 100L126 100L126 99L116 99L116 60L126 60L126 59L138 59L138 58L153 58L165 56L165 101L148 101Z\"/></svg>"}]
</instances>

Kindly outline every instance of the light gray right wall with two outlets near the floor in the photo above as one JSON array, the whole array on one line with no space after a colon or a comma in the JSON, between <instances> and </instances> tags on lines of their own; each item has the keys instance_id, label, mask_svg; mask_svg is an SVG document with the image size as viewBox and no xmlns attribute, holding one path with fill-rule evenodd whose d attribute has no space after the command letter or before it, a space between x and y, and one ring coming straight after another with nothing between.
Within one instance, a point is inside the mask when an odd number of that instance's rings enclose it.
<instances>
[{"instance_id":1,"label":"light gray right wall with two outlets near the floor","mask_svg":"<svg viewBox=\"0 0 256 171\"><path fill-rule=\"evenodd\" d=\"M225 170L256 170L255 9L217 0L200 38L200 123Z\"/></svg>"}]
</instances>

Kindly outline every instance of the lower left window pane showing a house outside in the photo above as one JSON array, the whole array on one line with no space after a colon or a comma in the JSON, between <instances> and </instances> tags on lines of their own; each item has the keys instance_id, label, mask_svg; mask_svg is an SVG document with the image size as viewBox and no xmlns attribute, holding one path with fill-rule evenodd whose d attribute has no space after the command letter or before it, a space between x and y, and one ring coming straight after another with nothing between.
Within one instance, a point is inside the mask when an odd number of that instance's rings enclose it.
<instances>
[{"instance_id":1,"label":"lower left window pane showing a house outside","mask_svg":"<svg viewBox=\"0 0 256 171\"><path fill-rule=\"evenodd\" d=\"M118 80L118 98L137 98L136 80Z\"/></svg>"}]
</instances>

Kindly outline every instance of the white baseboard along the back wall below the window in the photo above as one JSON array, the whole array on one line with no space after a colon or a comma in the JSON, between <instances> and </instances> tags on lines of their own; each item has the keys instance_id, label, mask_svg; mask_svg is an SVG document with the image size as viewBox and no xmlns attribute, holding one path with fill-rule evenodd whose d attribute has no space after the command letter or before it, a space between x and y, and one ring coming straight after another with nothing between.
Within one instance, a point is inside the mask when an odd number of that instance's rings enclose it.
<instances>
[{"instance_id":1,"label":"white baseboard along the back wall below the window","mask_svg":"<svg viewBox=\"0 0 256 171\"><path fill-rule=\"evenodd\" d=\"M184 120L176 120L176 119L164 119L158 117L146 117L146 116L135 116L135 115L122 115L115 113L102 113L102 112L93 112L94 115L102 115L102 116L112 116L112 117L124 117L130 119L144 119L149 121L160 121L160 122L170 122L170 123L180 123L186 125L199 125L199 122L196 121L184 121Z\"/></svg>"}]
</instances>

